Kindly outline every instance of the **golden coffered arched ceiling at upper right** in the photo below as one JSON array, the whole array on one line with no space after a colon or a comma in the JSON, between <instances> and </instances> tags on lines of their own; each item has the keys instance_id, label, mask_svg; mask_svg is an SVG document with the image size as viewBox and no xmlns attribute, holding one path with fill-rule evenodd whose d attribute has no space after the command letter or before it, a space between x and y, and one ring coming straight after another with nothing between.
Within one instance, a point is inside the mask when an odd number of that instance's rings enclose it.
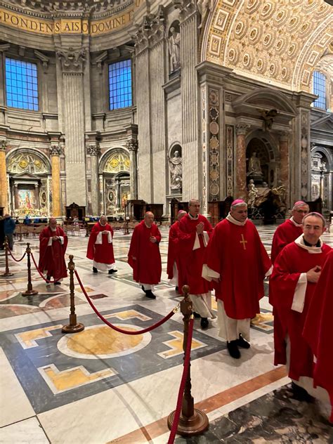
<instances>
[{"instance_id":1,"label":"golden coffered arched ceiling at upper right","mask_svg":"<svg viewBox=\"0 0 333 444\"><path fill-rule=\"evenodd\" d=\"M203 60L293 91L310 91L332 53L333 7L323 0L217 0Z\"/></svg>"}]
</instances>

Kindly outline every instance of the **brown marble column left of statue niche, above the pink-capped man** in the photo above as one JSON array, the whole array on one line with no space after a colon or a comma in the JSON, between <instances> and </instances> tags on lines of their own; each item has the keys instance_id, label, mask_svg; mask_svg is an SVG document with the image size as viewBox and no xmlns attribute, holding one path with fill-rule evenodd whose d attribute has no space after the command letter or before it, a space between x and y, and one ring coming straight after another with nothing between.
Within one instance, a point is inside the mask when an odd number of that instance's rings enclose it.
<instances>
[{"instance_id":1,"label":"brown marble column left of statue niche, above the pink-capped man","mask_svg":"<svg viewBox=\"0 0 333 444\"><path fill-rule=\"evenodd\" d=\"M236 176L236 190L235 199L245 199L247 195L247 159L246 159L246 144L245 135L249 130L247 124L236 125L236 162L235 162L235 176Z\"/></svg>"}]
</instances>

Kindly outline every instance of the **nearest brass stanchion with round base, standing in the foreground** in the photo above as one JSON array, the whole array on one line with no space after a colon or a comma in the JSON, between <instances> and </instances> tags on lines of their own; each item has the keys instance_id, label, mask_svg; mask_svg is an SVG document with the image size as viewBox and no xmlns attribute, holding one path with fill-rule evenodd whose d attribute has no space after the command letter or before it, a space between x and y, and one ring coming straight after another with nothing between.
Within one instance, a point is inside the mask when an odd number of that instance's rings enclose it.
<instances>
[{"instance_id":1,"label":"nearest brass stanchion with round base, standing in the foreground","mask_svg":"<svg viewBox=\"0 0 333 444\"><path fill-rule=\"evenodd\" d=\"M184 299L181 301L181 313L183 313L184 321L184 338L183 338L183 351L185 359L186 344L188 342L188 324L190 322L190 316L192 314L192 302L188 298L188 292L190 287L188 285L183 286ZM208 429L209 421L207 414L201 410L195 409L194 399L191 394L191 374L190 366L188 367L188 377L186 378L185 389L183 394L183 404L181 406L181 417L179 419L177 433L181 436L195 436L200 435ZM171 430L174 422L174 412L171 412L168 417L168 427Z\"/></svg>"}]
</instances>

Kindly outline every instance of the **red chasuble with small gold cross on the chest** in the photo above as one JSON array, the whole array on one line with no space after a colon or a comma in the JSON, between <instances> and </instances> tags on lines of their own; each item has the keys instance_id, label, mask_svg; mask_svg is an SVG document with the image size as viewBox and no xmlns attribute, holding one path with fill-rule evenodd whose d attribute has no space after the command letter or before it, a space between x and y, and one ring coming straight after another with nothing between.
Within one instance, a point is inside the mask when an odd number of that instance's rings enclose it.
<instances>
[{"instance_id":1,"label":"red chasuble with small gold cross on the chest","mask_svg":"<svg viewBox=\"0 0 333 444\"><path fill-rule=\"evenodd\" d=\"M206 256L207 266L220 274L220 281L214 282L215 295L228 317L247 319L260 313L263 279L271 264L254 224L238 226L223 219L215 227Z\"/></svg>"}]
</instances>

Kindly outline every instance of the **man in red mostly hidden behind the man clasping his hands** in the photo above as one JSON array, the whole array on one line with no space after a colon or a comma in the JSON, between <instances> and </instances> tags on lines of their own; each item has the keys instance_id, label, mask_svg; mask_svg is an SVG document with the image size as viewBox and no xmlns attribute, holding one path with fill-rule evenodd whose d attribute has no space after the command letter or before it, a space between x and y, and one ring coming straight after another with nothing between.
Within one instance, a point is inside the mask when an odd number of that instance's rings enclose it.
<instances>
[{"instance_id":1,"label":"man in red mostly hidden behind the man clasping his hands","mask_svg":"<svg viewBox=\"0 0 333 444\"><path fill-rule=\"evenodd\" d=\"M178 211L177 221L173 223L169 230L169 244L168 244L168 263L166 266L166 273L170 282L176 285L176 291L181 288L181 282L179 282L179 221L185 216L186 211L181 209Z\"/></svg>"}]
</instances>

